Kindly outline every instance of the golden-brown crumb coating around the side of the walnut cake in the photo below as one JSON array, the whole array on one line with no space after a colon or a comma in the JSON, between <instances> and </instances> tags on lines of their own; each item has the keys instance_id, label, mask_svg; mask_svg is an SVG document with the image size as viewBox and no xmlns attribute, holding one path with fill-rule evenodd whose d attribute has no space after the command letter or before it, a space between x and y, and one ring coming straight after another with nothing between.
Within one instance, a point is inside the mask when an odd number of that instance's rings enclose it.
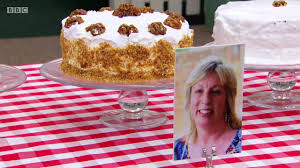
<instances>
[{"instance_id":1,"label":"golden-brown crumb coating around the side of the walnut cake","mask_svg":"<svg viewBox=\"0 0 300 168\"><path fill-rule=\"evenodd\" d=\"M160 80L174 76L175 47L159 40L148 48L129 44L115 48L106 42L88 47L84 40L60 36L63 61L60 69L71 76L100 81ZM193 36L184 35L179 48L193 46Z\"/></svg>"}]
</instances>

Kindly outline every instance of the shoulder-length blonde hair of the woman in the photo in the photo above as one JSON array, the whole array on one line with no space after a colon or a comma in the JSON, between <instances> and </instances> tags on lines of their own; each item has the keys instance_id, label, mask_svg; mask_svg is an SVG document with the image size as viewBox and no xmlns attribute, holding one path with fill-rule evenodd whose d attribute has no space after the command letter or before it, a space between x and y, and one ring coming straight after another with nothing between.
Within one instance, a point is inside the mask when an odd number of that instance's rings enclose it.
<instances>
[{"instance_id":1,"label":"shoulder-length blonde hair of the woman in the photo","mask_svg":"<svg viewBox=\"0 0 300 168\"><path fill-rule=\"evenodd\" d=\"M189 133L186 135L188 143L190 140L195 141L197 138L197 129L193 118L190 115L190 101L192 87L206 77L209 73L216 72L220 78L221 84L225 88L227 110L225 112L225 122L232 129L241 128L241 120L235 110L235 97L237 94L237 80L234 71L224 65L219 57L209 56L202 60L192 71L185 82L185 99L184 110L190 121Z\"/></svg>"}]
</instances>

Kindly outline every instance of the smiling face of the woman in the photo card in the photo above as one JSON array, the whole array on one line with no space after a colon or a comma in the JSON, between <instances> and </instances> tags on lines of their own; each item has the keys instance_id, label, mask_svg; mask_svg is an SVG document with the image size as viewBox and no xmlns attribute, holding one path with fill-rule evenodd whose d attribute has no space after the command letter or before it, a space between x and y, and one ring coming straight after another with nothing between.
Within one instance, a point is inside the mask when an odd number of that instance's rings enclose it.
<instances>
[{"instance_id":1,"label":"smiling face of the woman in the photo card","mask_svg":"<svg viewBox=\"0 0 300 168\"><path fill-rule=\"evenodd\" d=\"M223 123L226 109L225 89L216 72L192 87L190 112L196 125Z\"/></svg>"}]
</instances>

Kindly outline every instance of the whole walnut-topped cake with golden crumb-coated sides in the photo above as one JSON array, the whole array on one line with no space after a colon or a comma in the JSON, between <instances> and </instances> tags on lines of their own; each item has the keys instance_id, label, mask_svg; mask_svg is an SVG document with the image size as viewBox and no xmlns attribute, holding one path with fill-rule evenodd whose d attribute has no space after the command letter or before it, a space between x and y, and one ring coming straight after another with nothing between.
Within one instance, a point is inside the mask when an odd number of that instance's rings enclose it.
<instances>
[{"instance_id":1,"label":"whole walnut-topped cake with golden crumb-coated sides","mask_svg":"<svg viewBox=\"0 0 300 168\"><path fill-rule=\"evenodd\" d=\"M131 4L122 5L127 5L126 10L137 10L139 15L126 11L130 15L121 16L120 12L118 16L116 9L109 8L80 9L62 20L63 72L103 81L173 77L175 49L193 45L188 21L168 11L143 7L147 10L140 12L142 9Z\"/></svg>"}]
</instances>

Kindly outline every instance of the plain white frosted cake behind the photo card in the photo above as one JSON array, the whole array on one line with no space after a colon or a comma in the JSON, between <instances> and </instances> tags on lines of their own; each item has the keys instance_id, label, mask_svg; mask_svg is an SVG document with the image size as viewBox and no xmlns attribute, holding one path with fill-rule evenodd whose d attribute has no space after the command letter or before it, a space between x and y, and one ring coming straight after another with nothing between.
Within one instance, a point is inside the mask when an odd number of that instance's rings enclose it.
<instances>
[{"instance_id":1,"label":"plain white frosted cake behind the photo card","mask_svg":"<svg viewBox=\"0 0 300 168\"><path fill-rule=\"evenodd\" d=\"M235 1L215 12L214 44L243 43L245 64L300 64L300 1Z\"/></svg>"}]
</instances>

